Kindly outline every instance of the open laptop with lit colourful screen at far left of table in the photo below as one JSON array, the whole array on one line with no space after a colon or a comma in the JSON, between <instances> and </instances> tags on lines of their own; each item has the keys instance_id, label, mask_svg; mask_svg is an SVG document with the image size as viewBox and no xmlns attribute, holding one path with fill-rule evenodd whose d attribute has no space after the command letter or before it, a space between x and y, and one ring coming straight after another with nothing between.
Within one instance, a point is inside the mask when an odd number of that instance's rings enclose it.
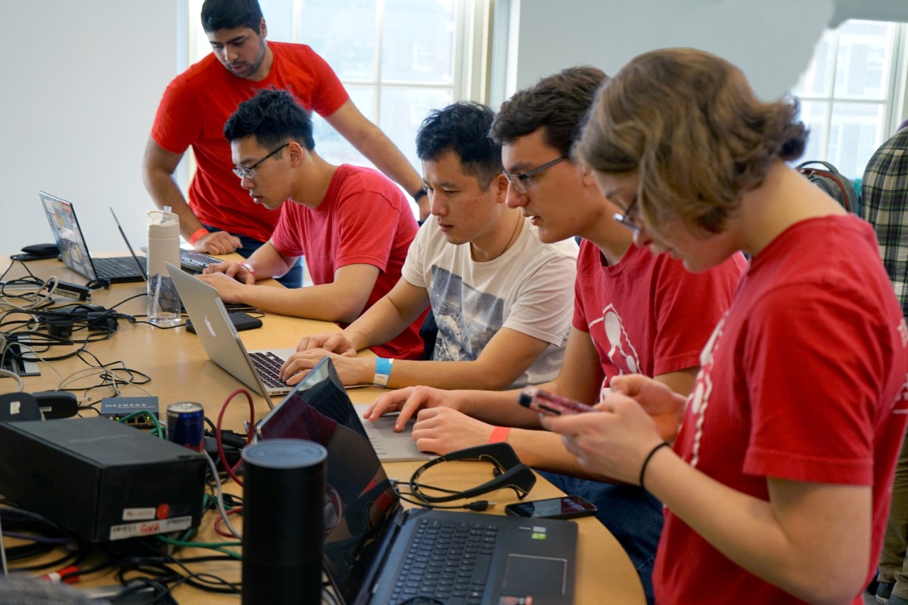
<instances>
[{"instance_id":1,"label":"open laptop with lit colourful screen at far left of table","mask_svg":"<svg viewBox=\"0 0 908 605\"><path fill-rule=\"evenodd\" d=\"M143 271L138 261L130 256L92 258L79 221L75 218L73 204L50 193L38 192L44 205L47 223L54 233L60 257L67 267L89 280L107 280L110 283L142 282Z\"/></svg>"}]
</instances>

